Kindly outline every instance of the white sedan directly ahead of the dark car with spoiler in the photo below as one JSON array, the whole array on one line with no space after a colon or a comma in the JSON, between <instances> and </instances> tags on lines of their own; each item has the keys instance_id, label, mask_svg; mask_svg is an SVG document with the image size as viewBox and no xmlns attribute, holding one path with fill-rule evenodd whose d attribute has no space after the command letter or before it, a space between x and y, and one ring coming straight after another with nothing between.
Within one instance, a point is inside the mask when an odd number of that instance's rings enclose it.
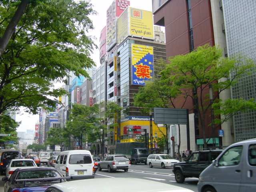
<instances>
[{"instance_id":1,"label":"white sedan directly ahead of the dark car with spoiler","mask_svg":"<svg viewBox=\"0 0 256 192\"><path fill-rule=\"evenodd\" d=\"M22 167L37 167L33 159L12 159L6 167L6 177L9 179L14 170Z\"/></svg>"}]
</instances>

